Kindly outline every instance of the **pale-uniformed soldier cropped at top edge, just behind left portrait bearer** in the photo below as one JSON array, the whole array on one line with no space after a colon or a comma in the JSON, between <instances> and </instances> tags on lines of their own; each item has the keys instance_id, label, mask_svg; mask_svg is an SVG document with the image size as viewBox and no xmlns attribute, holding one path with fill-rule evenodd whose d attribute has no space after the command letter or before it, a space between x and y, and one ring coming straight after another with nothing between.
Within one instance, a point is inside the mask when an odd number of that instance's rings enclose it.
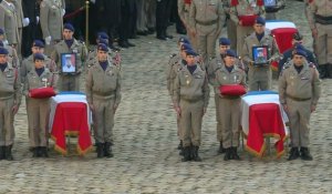
<instances>
[{"instance_id":1,"label":"pale-uniformed soldier cropped at top edge, just behind left portrait bearer","mask_svg":"<svg viewBox=\"0 0 332 194\"><path fill-rule=\"evenodd\" d=\"M46 44L46 55L52 53L54 45L62 39L63 14L61 0L43 0L40 3L40 23Z\"/></svg>"}]
</instances>

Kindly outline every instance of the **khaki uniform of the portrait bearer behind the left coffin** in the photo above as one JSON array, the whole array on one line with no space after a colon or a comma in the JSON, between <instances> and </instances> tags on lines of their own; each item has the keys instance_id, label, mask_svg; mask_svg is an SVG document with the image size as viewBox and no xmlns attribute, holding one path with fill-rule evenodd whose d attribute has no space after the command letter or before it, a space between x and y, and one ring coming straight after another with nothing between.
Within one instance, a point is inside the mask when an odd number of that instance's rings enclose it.
<instances>
[{"instance_id":1,"label":"khaki uniform of the portrait bearer behind the left coffin","mask_svg":"<svg viewBox=\"0 0 332 194\"><path fill-rule=\"evenodd\" d=\"M61 54L62 53L75 53L76 54L76 72L75 73L62 73ZM83 62L85 61L87 51L85 44L74 39L71 48L68 47L64 40L54 45L51 59L56 62L56 71L59 72L59 91L80 91L80 74L83 69Z\"/></svg>"}]
</instances>

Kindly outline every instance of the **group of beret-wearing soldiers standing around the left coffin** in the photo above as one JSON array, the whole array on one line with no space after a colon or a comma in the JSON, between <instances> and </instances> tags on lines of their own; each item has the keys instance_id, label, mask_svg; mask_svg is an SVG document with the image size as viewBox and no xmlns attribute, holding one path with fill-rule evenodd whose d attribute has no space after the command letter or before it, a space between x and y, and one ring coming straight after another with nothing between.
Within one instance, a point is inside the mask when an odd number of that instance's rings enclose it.
<instances>
[{"instance_id":1,"label":"group of beret-wearing soldiers standing around the left coffin","mask_svg":"<svg viewBox=\"0 0 332 194\"><path fill-rule=\"evenodd\" d=\"M22 94L25 95L29 140L33 156L48 156L50 99L34 98L32 91L40 88L52 88L56 93L80 91L81 74L86 76L86 101L95 123L97 156L113 156L111 146L114 114L121 102L121 59L111 52L105 32L98 33L98 44L87 55L84 43L73 38L74 31L72 24L63 25L63 40L54 44L51 58L44 53L44 43L35 40L31 47L32 54L19 67L9 61L8 49L0 47L0 160L13 160L13 120ZM3 44L2 41L0 43ZM75 60L66 60L66 54L74 55ZM86 64L86 71L83 70L83 64Z\"/></svg>"}]
</instances>

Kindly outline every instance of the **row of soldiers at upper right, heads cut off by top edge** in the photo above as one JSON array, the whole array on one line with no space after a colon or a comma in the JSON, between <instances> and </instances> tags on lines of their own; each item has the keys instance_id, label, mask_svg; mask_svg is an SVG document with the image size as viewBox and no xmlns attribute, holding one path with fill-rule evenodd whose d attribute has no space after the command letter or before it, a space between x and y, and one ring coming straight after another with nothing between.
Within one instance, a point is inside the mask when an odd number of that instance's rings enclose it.
<instances>
[{"instance_id":1,"label":"row of soldiers at upper right, heads cut off by top edge","mask_svg":"<svg viewBox=\"0 0 332 194\"><path fill-rule=\"evenodd\" d=\"M276 1L274 1L276 2ZM178 13L184 22L193 47L207 61L214 58L216 40L220 34L225 18L227 37L231 40L231 49L241 58L246 55L245 39L253 32L255 18L276 19L276 12L284 8L284 1L262 0L178 0ZM307 0L305 16L314 39L314 53L318 57L318 70L322 79L331 78L331 22L332 6L329 0ZM272 16L271 16L272 14Z\"/></svg>"}]
</instances>

